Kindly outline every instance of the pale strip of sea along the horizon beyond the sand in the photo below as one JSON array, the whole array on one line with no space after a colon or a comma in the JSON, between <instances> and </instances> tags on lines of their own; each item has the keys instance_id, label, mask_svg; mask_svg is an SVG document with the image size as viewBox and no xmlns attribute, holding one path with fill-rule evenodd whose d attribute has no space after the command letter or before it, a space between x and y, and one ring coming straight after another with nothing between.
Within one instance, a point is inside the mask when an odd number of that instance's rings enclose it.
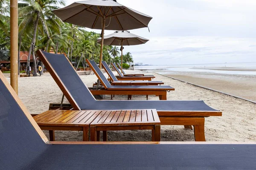
<instances>
[{"instance_id":1,"label":"pale strip of sea along the horizon beyond the sand","mask_svg":"<svg viewBox=\"0 0 256 170\"><path fill-rule=\"evenodd\" d=\"M202 68L202 69L196 69ZM226 71L226 70L209 70L207 68L241 68L252 69L253 71ZM135 66L136 70L151 70L168 74L170 72L207 72L218 74L241 74L256 75L256 62L236 62L236 63L208 63L208 64L188 64L188 65L142 65Z\"/></svg>"}]
</instances>

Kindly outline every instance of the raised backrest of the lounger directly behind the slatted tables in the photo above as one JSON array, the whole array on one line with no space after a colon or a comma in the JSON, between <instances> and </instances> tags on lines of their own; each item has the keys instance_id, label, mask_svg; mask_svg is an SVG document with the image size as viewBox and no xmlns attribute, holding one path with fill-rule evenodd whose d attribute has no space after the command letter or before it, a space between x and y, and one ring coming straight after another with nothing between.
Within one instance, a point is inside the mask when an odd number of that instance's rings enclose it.
<instances>
[{"instance_id":1,"label":"raised backrest of the lounger directly behind the slatted tables","mask_svg":"<svg viewBox=\"0 0 256 170\"><path fill-rule=\"evenodd\" d=\"M51 54L40 50L37 54L73 108L81 110L81 107L96 102L64 54Z\"/></svg>"}]
</instances>

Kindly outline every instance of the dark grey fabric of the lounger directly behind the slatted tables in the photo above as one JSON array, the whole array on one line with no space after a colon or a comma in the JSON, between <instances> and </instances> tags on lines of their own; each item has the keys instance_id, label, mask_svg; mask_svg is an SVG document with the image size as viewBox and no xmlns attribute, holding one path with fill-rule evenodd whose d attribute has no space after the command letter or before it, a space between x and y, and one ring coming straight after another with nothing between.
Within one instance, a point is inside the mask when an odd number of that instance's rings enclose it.
<instances>
[{"instance_id":1,"label":"dark grey fabric of the lounger directly behind the slatted tables","mask_svg":"<svg viewBox=\"0 0 256 170\"><path fill-rule=\"evenodd\" d=\"M44 51L43 53L79 107L83 110L156 109L157 111L217 111L206 105L204 101L95 100L63 54L50 54Z\"/></svg>"}]
</instances>

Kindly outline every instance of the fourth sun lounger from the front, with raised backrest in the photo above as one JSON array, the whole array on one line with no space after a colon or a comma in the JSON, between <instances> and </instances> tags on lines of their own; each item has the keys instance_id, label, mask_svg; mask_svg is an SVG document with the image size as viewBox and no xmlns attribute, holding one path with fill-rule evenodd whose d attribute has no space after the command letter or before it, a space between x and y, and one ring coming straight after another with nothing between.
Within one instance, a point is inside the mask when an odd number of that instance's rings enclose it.
<instances>
[{"instance_id":1,"label":"fourth sun lounger from the front, with raised backrest","mask_svg":"<svg viewBox=\"0 0 256 170\"><path fill-rule=\"evenodd\" d=\"M164 84L162 81L129 81L129 80L119 81L105 61L102 61L102 66L111 79L111 85L163 85Z\"/></svg>"}]
</instances>

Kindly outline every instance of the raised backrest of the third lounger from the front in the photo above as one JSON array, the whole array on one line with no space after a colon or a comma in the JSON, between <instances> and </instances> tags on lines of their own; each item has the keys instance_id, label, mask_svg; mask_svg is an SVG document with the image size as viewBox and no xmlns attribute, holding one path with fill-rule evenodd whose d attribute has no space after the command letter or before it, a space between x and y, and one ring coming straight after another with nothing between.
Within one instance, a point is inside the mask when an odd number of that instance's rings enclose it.
<instances>
[{"instance_id":1,"label":"raised backrest of the third lounger from the front","mask_svg":"<svg viewBox=\"0 0 256 170\"><path fill-rule=\"evenodd\" d=\"M93 60L88 60L86 59L86 62L90 65L90 68L93 69L93 72L96 74L96 76L98 77L98 79L101 81L101 83L103 84L103 86L105 88L111 88L112 85L110 84L110 82L108 82L108 79L104 76L104 74L102 73L102 71L99 69L98 65L96 64L95 61Z\"/></svg>"}]
</instances>

